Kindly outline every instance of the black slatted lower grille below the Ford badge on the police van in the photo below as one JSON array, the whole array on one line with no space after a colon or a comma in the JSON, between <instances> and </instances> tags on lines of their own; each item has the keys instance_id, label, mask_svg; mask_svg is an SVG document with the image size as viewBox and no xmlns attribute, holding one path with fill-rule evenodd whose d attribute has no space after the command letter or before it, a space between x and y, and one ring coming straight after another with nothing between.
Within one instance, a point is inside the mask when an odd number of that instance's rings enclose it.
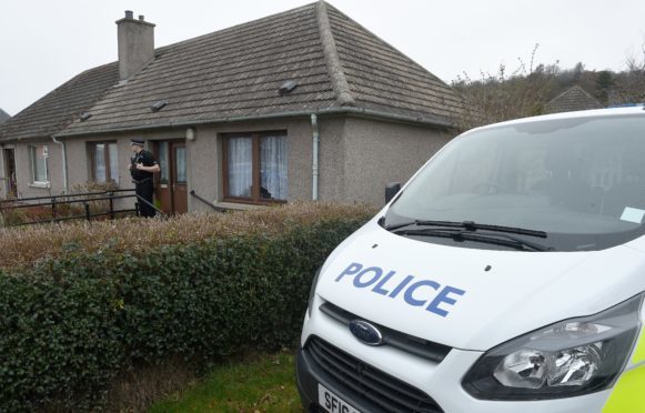
<instances>
[{"instance_id":1,"label":"black slatted lower grille below the Ford badge on the police van","mask_svg":"<svg viewBox=\"0 0 645 413\"><path fill-rule=\"evenodd\" d=\"M322 370L332 377L330 385L356 399L366 399L384 412L443 412L421 390L365 364L316 336L306 342L304 353L316 370Z\"/></svg>"}]
</instances>

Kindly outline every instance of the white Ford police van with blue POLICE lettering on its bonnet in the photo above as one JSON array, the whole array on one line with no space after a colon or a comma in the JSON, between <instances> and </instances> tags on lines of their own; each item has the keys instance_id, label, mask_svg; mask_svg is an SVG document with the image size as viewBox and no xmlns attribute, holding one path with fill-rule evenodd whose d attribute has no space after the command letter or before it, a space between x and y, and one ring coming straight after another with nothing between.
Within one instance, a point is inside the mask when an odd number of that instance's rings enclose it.
<instances>
[{"instance_id":1,"label":"white Ford police van with blue POLICE lettering on its bonnet","mask_svg":"<svg viewBox=\"0 0 645 413\"><path fill-rule=\"evenodd\" d=\"M305 411L645 412L643 108L474 129L386 192L315 275Z\"/></svg>"}]
</instances>

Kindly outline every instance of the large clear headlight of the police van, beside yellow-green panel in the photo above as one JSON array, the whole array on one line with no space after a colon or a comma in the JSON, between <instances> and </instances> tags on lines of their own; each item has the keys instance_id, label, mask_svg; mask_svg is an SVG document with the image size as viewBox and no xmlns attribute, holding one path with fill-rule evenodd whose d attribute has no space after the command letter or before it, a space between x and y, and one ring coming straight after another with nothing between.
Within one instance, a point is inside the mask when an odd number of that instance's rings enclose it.
<instances>
[{"instance_id":1,"label":"large clear headlight of the police van, beside yellow-green panel","mask_svg":"<svg viewBox=\"0 0 645 413\"><path fill-rule=\"evenodd\" d=\"M597 392L614 384L641 328L643 294L599 314L566 320L484 354L463 386L484 400L541 400Z\"/></svg>"}]
</instances>

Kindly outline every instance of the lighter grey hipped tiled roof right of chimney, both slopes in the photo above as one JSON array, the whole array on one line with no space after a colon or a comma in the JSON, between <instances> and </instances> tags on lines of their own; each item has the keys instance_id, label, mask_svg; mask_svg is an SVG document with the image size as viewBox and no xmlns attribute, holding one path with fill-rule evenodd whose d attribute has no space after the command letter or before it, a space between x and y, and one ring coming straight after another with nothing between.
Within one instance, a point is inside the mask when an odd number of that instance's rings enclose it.
<instances>
[{"instance_id":1,"label":"lighter grey hipped tiled roof right of chimney, both slopes","mask_svg":"<svg viewBox=\"0 0 645 413\"><path fill-rule=\"evenodd\" d=\"M288 80L298 88L281 95ZM68 117L71 124L57 134L334 110L450 123L460 100L432 73L323 1L159 48L144 69L110 88L114 83L97 85L107 91L88 109L90 119ZM34 105L53 104L48 97ZM168 104L153 112L157 101ZM31 122L40 123L39 111L31 113L37 115Z\"/></svg>"}]
</instances>

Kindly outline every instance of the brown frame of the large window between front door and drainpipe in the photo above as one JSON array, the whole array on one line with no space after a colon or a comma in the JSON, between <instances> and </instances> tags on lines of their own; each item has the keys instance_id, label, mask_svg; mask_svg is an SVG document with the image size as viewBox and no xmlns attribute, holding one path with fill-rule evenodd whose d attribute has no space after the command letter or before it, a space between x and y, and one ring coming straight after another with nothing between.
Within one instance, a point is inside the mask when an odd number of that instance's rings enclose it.
<instances>
[{"instance_id":1,"label":"brown frame of the large window between front door and drainpipe","mask_svg":"<svg viewBox=\"0 0 645 413\"><path fill-rule=\"evenodd\" d=\"M239 132L239 133L224 133L222 134L222 194L223 201L236 202L236 203L250 203L255 205L270 205L270 204L284 204L288 200L268 200L260 195L261 177L260 177L260 164L261 164L261 142L263 137L275 137L281 135L288 139L285 130L275 131L263 131L263 132ZM252 139L252 158L251 158L251 198L244 197L232 197L229 195L229 141L235 138L251 138ZM289 159L289 150L286 153ZM289 178L288 178L289 185Z\"/></svg>"}]
</instances>

